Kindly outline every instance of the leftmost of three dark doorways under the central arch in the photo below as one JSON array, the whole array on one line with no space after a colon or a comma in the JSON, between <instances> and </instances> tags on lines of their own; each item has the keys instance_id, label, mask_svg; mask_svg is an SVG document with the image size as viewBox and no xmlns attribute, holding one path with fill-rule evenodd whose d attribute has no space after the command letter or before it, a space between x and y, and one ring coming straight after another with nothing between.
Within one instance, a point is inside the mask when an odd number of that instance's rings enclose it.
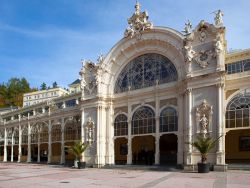
<instances>
[{"instance_id":1,"label":"leftmost of three dark doorways under the central arch","mask_svg":"<svg viewBox=\"0 0 250 188\"><path fill-rule=\"evenodd\" d=\"M115 164L127 164L128 139L125 137L115 138Z\"/></svg>"}]
</instances>

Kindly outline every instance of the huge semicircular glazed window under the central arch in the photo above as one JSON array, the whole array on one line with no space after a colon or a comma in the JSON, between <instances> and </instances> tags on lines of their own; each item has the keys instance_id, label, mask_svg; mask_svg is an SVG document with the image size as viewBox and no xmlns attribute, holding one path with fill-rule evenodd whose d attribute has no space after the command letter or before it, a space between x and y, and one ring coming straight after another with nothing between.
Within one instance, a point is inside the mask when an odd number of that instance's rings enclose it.
<instances>
[{"instance_id":1,"label":"huge semicircular glazed window under the central arch","mask_svg":"<svg viewBox=\"0 0 250 188\"><path fill-rule=\"evenodd\" d=\"M149 53L141 55L129 62L120 73L115 93L150 87L176 81L177 71L173 63L163 55Z\"/></svg>"}]
</instances>

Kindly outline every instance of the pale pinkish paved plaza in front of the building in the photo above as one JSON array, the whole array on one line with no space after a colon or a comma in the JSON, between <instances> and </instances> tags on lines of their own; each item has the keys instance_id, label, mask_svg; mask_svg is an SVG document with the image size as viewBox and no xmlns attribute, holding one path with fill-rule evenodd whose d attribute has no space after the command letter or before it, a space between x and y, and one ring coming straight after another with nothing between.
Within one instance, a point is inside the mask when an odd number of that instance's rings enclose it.
<instances>
[{"instance_id":1,"label":"pale pinkish paved plaza in front of the building","mask_svg":"<svg viewBox=\"0 0 250 188\"><path fill-rule=\"evenodd\" d=\"M123 169L72 169L53 165L0 163L0 187L249 188L250 171L167 172Z\"/></svg>"}]
</instances>

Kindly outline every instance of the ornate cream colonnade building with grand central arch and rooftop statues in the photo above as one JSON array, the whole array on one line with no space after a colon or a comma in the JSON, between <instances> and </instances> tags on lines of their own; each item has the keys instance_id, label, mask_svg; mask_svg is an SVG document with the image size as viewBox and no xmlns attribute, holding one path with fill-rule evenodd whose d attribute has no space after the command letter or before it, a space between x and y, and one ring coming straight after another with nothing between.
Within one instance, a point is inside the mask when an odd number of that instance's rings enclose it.
<instances>
[{"instance_id":1,"label":"ornate cream colonnade building with grand central arch and rooftop statues","mask_svg":"<svg viewBox=\"0 0 250 188\"><path fill-rule=\"evenodd\" d=\"M135 8L124 38L83 62L80 92L1 115L1 161L64 164L64 146L82 140L88 165L193 167L200 154L186 143L209 135L222 136L215 169L250 162L250 50L227 52L222 12L182 34Z\"/></svg>"}]
</instances>

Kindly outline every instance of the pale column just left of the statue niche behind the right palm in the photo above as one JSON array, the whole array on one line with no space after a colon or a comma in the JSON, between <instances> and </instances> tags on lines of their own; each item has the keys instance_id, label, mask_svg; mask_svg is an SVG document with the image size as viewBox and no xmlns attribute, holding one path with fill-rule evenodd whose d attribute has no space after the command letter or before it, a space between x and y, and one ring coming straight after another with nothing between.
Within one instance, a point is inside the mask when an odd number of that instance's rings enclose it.
<instances>
[{"instance_id":1,"label":"pale column just left of the statue niche behind the right palm","mask_svg":"<svg viewBox=\"0 0 250 188\"><path fill-rule=\"evenodd\" d=\"M192 89L189 88L186 90L186 112L187 112L187 142L192 142ZM186 164L192 165L192 146L187 144L187 157L186 157Z\"/></svg>"}]
</instances>

